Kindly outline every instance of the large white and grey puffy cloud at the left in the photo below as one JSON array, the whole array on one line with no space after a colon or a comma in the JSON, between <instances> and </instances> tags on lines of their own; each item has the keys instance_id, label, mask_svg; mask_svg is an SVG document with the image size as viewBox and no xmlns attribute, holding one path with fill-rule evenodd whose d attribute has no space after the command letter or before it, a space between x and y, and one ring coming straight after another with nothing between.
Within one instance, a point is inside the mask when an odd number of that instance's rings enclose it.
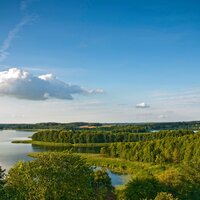
<instances>
[{"instance_id":1,"label":"large white and grey puffy cloud at the left","mask_svg":"<svg viewBox=\"0 0 200 200\"><path fill-rule=\"evenodd\" d=\"M59 80L52 74L34 76L31 73L10 68L0 72L0 95L28 100L73 99L74 94L96 94L103 90L88 90Z\"/></svg>"}]
</instances>

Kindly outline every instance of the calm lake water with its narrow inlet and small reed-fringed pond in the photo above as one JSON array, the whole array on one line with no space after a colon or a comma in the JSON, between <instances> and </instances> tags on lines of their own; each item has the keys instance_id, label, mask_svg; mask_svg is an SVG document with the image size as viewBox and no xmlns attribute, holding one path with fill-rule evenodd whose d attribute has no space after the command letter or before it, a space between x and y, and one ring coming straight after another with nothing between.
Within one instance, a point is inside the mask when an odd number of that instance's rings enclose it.
<instances>
[{"instance_id":1,"label":"calm lake water with its narrow inlet and small reed-fringed pond","mask_svg":"<svg viewBox=\"0 0 200 200\"><path fill-rule=\"evenodd\" d=\"M76 148L58 148L58 147L41 147L32 144L14 144L13 140L27 140L32 136L30 131L14 131L14 130L0 130L0 166L7 171L19 160L30 161L31 157L27 156L31 152L42 152L51 150L69 150L82 153L96 153L99 148L93 147L76 147ZM122 185L130 180L129 175L119 175L107 170L113 186Z\"/></svg>"}]
</instances>

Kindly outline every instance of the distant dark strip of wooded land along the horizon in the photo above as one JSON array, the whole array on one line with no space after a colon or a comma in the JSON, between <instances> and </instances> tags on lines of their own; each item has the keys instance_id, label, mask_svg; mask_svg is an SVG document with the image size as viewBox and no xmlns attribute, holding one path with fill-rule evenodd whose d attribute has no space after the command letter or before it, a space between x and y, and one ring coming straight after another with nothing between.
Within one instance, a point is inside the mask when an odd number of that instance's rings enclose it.
<instances>
[{"instance_id":1,"label":"distant dark strip of wooded land along the horizon","mask_svg":"<svg viewBox=\"0 0 200 200\"><path fill-rule=\"evenodd\" d=\"M88 122L72 122L72 123L36 123L36 124L0 124L1 129L100 129L102 131L121 131L121 132L150 132L152 130L198 130L200 129L200 121L192 122L167 122L167 123L88 123Z\"/></svg>"}]
</instances>

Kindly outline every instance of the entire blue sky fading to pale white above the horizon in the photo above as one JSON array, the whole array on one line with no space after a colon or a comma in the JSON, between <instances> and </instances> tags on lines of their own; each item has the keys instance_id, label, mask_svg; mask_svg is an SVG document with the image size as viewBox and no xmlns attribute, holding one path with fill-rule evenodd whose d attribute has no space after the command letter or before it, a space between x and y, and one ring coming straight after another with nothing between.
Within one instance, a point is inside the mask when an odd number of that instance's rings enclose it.
<instances>
[{"instance_id":1,"label":"entire blue sky fading to pale white above the horizon","mask_svg":"<svg viewBox=\"0 0 200 200\"><path fill-rule=\"evenodd\" d=\"M0 27L2 123L199 120L199 1L2 0Z\"/></svg>"}]
</instances>

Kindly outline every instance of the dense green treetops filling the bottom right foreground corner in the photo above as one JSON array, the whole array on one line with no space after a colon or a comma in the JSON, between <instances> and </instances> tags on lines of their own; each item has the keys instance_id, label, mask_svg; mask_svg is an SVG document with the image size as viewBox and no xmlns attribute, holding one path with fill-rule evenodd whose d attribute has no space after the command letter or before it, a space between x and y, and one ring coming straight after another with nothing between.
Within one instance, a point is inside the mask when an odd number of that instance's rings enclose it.
<instances>
[{"instance_id":1,"label":"dense green treetops filling the bottom right foreground corner","mask_svg":"<svg viewBox=\"0 0 200 200\"><path fill-rule=\"evenodd\" d=\"M134 177L122 191L123 200L199 200L199 162L184 164L179 169L168 169L154 176L143 173Z\"/></svg>"}]
</instances>

